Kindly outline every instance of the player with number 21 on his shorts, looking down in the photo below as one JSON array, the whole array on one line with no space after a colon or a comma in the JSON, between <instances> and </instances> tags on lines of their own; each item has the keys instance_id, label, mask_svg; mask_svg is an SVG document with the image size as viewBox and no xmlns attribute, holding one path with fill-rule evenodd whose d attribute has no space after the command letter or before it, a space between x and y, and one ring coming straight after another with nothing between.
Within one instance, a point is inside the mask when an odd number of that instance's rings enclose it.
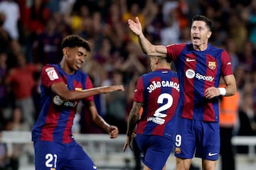
<instances>
[{"instance_id":1,"label":"player with number 21 on his shorts, looking down","mask_svg":"<svg viewBox=\"0 0 256 170\"><path fill-rule=\"evenodd\" d=\"M97 169L71 132L78 101L85 103L92 122L108 132L110 138L115 138L117 127L107 124L98 115L93 95L124 91L124 87L92 88L90 77L80 71L90 52L90 44L78 35L65 37L61 49L61 62L46 64L41 72L41 112L32 129L36 170Z\"/></svg>"}]
</instances>

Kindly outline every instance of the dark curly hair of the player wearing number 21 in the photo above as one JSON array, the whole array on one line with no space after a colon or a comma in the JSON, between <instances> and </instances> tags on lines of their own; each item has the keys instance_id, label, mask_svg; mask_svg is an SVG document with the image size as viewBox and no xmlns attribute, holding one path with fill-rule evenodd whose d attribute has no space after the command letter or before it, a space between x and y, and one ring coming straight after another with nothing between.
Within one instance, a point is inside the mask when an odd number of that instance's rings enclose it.
<instances>
[{"instance_id":1,"label":"dark curly hair of the player wearing number 21","mask_svg":"<svg viewBox=\"0 0 256 170\"><path fill-rule=\"evenodd\" d=\"M78 35L68 35L61 42L61 49L65 47L84 47L90 52L90 43Z\"/></svg>"}]
</instances>

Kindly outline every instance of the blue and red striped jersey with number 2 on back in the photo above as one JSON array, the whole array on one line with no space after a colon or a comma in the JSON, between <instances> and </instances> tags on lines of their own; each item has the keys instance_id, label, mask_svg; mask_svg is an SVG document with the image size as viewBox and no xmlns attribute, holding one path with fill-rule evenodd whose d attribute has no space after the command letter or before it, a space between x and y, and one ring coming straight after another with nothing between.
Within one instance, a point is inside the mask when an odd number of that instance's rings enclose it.
<instances>
[{"instance_id":1,"label":"blue and red striped jersey with number 2 on back","mask_svg":"<svg viewBox=\"0 0 256 170\"><path fill-rule=\"evenodd\" d=\"M134 101L143 103L143 112L136 133L173 137L178 93L178 76L170 69L157 69L139 77Z\"/></svg>"}]
</instances>

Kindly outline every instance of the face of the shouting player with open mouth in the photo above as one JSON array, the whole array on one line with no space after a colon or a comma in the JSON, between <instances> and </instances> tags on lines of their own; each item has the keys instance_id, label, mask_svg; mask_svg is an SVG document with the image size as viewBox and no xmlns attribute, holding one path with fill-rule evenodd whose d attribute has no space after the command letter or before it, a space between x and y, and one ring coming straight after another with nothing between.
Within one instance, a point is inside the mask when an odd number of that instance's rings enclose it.
<instances>
[{"instance_id":1,"label":"face of the shouting player with open mouth","mask_svg":"<svg viewBox=\"0 0 256 170\"><path fill-rule=\"evenodd\" d=\"M200 48L202 45L207 45L210 35L211 31L206 26L206 22L193 21L191 26L191 41L194 46Z\"/></svg>"}]
</instances>

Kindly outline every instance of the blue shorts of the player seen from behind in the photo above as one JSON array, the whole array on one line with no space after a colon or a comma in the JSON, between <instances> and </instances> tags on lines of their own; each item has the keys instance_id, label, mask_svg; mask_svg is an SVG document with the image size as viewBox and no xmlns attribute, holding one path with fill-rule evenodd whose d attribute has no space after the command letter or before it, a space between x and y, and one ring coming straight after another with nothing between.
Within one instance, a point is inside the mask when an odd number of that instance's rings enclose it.
<instances>
[{"instance_id":1,"label":"blue shorts of the player seen from behind","mask_svg":"<svg viewBox=\"0 0 256 170\"><path fill-rule=\"evenodd\" d=\"M163 169L174 147L174 142L156 135L136 135L136 142L144 157L142 162L149 169Z\"/></svg>"}]
</instances>

